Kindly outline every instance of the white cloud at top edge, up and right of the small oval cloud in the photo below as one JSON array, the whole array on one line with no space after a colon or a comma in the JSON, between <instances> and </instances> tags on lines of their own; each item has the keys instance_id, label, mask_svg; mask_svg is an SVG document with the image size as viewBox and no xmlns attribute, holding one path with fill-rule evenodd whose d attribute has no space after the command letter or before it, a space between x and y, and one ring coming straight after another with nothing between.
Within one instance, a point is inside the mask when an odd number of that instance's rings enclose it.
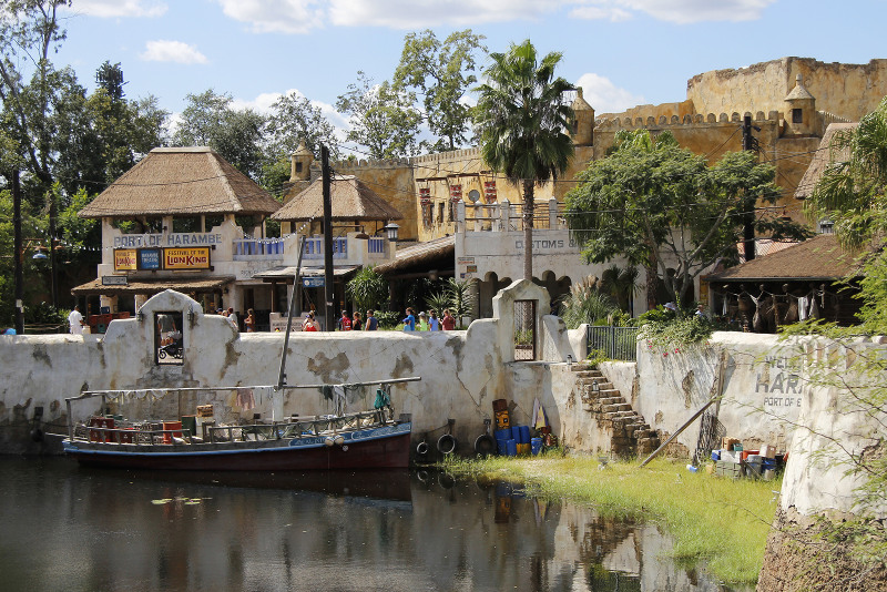
<instances>
[{"instance_id":1,"label":"white cloud at top edge, up and right of the small oval cloud","mask_svg":"<svg viewBox=\"0 0 887 592\"><path fill-rule=\"evenodd\" d=\"M323 27L317 0L215 0L227 17L252 24L256 33L307 33Z\"/></svg>"}]
</instances>

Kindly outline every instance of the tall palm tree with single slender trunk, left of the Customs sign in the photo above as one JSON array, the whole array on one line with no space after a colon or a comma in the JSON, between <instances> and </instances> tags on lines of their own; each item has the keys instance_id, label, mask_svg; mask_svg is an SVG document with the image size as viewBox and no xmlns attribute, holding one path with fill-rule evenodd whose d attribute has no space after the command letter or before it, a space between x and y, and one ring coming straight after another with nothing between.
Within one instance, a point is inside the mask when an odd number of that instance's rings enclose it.
<instances>
[{"instance_id":1,"label":"tall palm tree with single slender trunk, left of the Customs sign","mask_svg":"<svg viewBox=\"0 0 887 592\"><path fill-rule=\"evenodd\" d=\"M573 110L563 93L573 86L554 78L562 54L541 61L528 39L507 53L491 53L475 109L483 161L523 188L523 277L532 280L533 188L563 174L573 156L567 134Z\"/></svg>"}]
</instances>

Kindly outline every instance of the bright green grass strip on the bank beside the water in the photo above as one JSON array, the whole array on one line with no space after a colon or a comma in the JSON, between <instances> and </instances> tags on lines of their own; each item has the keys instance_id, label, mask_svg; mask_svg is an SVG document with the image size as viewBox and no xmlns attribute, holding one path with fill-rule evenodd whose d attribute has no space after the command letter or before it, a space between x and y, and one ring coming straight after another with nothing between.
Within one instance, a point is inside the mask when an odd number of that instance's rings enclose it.
<instances>
[{"instance_id":1,"label":"bright green grass strip on the bank beside the water","mask_svg":"<svg viewBox=\"0 0 887 592\"><path fill-rule=\"evenodd\" d=\"M513 459L452 460L453 474L507 479L534 493L594 506L604 514L655 521L675 539L672 557L682 564L705 562L706 571L727 584L757 581L781 481L732 480L686 470L686 460L636 461L547 455Z\"/></svg>"}]
</instances>

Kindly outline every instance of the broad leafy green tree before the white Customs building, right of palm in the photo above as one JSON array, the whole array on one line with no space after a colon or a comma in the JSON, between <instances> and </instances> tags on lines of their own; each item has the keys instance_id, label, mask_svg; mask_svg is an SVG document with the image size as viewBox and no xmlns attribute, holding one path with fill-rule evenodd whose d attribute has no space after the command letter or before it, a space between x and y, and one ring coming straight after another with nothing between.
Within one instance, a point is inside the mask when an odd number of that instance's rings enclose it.
<instances>
[{"instance_id":1,"label":"broad leafy green tree before the white Customs building, right of palm","mask_svg":"<svg viewBox=\"0 0 887 592\"><path fill-rule=\"evenodd\" d=\"M692 303L696 276L718 259L737 261L746 196L774 203L774 176L773 166L751 152L728 153L708 167L667 136L652 144L633 137L580 173L580 184L567 194L565 217L587 261L655 263L670 299ZM775 241L808 236L767 210L756 216L755 229ZM649 268L648 299L650 276Z\"/></svg>"}]
</instances>

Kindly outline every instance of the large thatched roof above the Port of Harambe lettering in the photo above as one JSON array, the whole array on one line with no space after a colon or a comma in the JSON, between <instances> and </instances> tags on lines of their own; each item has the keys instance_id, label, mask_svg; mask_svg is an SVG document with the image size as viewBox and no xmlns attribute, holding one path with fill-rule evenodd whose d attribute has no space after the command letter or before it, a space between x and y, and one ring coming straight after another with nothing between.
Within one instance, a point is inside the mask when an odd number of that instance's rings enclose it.
<instances>
[{"instance_id":1,"label":"large thatched roof above the Port of Harambe lettering","mask_svg":"<svg viewBox=\"0 0 887 592\"><path fill-rule=\"evenodd\" d=\"M154 149L80 217L263 214L281 203L208 147Z\"/></svg>"}]
</instances>

